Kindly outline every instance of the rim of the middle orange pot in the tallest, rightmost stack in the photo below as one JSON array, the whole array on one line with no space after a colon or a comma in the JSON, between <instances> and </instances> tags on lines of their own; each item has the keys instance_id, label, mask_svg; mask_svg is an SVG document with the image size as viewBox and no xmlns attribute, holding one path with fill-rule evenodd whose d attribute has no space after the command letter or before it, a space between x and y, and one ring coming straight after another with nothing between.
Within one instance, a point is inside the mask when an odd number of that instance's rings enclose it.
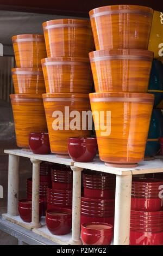
<instances>
[{"instance_id":1,"label":"rim of the middle orange pot in the tallest, rightmost stack","mask_svg":"<svg viewBox=\"0 0 163 256\"><path fill-rule=\"evenodd\" d=\"M106 49L91 51L89 53L90 61L103 61L109 59L148 59L152 61L154 56L153 51L143 50L143 49Z\"/></svg>"}]
</instances>

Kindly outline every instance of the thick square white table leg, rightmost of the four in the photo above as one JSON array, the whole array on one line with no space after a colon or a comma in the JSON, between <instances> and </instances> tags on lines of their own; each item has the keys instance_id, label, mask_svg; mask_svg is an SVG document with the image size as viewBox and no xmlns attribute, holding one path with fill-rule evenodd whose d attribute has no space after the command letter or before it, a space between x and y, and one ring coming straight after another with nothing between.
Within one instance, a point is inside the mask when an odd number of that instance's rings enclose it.
<instances>
[{"instance_id":1,"label":"thick square white table leg, rightmost of the four","mask_svg":"<svg viewBox=\"0 0 163 256\"><path fill-rule=\"evenodd\" d=\"M132 175L116 176L114 245L129 245Z\"/></svg>"}]
</instances>

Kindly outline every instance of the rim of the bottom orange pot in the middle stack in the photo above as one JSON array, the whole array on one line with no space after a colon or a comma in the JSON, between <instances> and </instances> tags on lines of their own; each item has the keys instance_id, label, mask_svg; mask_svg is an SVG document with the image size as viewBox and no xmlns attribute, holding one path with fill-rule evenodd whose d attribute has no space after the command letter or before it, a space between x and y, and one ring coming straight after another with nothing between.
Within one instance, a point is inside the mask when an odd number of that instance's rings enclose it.
<instances>
[{"instance_id":1,"label":"rim of the bottom orange pot in the middle stack","mask_svg":"<svg viewBox=\"0 0 163 256\"><path fill-rule=\"evenodd\" d=\"M44 93L42 94L43 100L58 98L58 99L86 99L89 100L89 94L86 93Z\"/></svg>"}]
</instances>

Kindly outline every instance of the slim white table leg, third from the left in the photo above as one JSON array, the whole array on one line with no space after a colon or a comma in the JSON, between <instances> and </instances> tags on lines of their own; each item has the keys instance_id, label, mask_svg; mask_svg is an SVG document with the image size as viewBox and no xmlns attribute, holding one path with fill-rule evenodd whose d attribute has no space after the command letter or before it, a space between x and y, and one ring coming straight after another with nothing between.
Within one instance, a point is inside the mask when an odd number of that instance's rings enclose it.
<instances>
[{"instance_id":1,"label":"slim white table leg, third from the left","mask_svg":"<svg viewBox=\"0 0 163 256\"><path fill-rule=\"evenodd\" d=\"M80 205L81 184L83 168L71 166L73 170L73 192L72 192L72 238L71 245L82 245L80 240Z\"/></svg>"}]
</instances>

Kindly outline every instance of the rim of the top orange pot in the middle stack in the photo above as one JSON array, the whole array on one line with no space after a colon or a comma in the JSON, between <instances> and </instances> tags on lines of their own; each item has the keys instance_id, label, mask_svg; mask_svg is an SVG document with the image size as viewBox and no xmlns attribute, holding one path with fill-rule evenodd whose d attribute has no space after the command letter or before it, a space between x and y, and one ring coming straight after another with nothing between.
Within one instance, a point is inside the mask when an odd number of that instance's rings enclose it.
<instances>
[{"instance_id":1,"label":"rim of the top orange pot in the middle stack","mask_svg":"<svg viewBox=\"0 0 163 256\"><path fill-rule=\"evenodd\" d=\"M53 27L53 25L59 25L59 26ZM42 23L43 30L57 28L57 27L64 27L65 25L68 25L70 27L71 26L91 27L90 20L82 20L82 19L56 19L56 20L48 20ZM65 27L68 27L68 26L65 26Z\"/></svg>"}]
</instances>

